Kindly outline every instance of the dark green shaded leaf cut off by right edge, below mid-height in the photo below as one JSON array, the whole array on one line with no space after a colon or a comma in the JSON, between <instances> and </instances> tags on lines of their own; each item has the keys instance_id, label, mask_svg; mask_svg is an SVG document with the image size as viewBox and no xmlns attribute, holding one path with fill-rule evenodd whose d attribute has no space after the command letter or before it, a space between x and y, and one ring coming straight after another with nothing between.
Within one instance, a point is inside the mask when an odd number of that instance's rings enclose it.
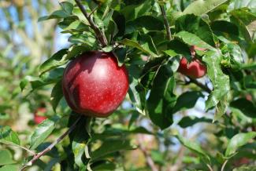
<instances>
[{"instance_id":1,"label":"dark green shaded leaf cut off by right edge, below mid-height","mask_svg":"<svg viewBox=\"0 0 256 171\"><path fill-rule=\"evenodd\" d=\"M254 104L246 99L238 99L235 101L232 101L230 103L230 107L235 107L239 111L242 111L244 115L247 115L250 118L256 118L256 107Z\"/></svg>"}]
</instances>

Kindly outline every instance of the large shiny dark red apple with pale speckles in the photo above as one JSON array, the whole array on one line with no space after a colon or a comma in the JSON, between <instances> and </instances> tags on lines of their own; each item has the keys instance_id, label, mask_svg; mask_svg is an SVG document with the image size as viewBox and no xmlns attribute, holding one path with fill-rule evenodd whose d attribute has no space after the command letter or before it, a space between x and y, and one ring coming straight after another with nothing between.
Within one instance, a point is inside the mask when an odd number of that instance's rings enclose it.
<instances>
[{"instance_id":1,"label":"large shiny dark red apple with pale speckles","mask_svg":"<svg viewBox=\"0 0 256 171\"><path fill-rule=\"evenodd\" d=\"M104 118L113 113L128 91L128 72L113 53L90 51L65 68L62 90L73 111Z\"/></svg>"}]
</instances>

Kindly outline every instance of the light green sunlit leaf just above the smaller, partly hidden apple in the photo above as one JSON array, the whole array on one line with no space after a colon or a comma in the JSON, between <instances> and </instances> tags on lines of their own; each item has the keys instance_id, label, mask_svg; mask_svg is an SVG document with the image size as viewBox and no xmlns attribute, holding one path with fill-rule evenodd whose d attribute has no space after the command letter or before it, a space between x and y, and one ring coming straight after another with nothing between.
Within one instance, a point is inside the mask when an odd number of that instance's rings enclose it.
<instances>
[{"instance_id":1,"label":"light green sunlit leaf just above the smaller, partly hidden apple","mask_svg":"<svg viewBox=\"0 0 256 171\"><path fill-rule=\"evenodd\" d=\"M176 38L180 38L183 42L187 43L188 45L196 45L198 48L216 51L216 49L213 48L213 46L208 45L206 42L203 42L201 38L198 38L197 35L191 34L187 31L180 31L174 36Z\"/></svg>"}]
</instances>

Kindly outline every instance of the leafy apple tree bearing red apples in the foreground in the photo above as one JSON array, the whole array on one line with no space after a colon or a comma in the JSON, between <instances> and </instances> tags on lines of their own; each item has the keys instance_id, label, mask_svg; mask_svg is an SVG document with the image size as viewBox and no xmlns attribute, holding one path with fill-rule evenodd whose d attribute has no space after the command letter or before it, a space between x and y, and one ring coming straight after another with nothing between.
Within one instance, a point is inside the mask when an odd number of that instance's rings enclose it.
<instances>
[{"instance_id":1,"label":"leafy apple tree bearing red apples in the foreground","mask_svg":"<svg viewBox=\"0 0 256 171\"><path fill-rule=\"evenodd\" d=\"M52 109L29 135L2 124L0 171L256 168L254 0L70 0L53 20L66 48L17 90Z\"/></svg>"}]
</instances>

